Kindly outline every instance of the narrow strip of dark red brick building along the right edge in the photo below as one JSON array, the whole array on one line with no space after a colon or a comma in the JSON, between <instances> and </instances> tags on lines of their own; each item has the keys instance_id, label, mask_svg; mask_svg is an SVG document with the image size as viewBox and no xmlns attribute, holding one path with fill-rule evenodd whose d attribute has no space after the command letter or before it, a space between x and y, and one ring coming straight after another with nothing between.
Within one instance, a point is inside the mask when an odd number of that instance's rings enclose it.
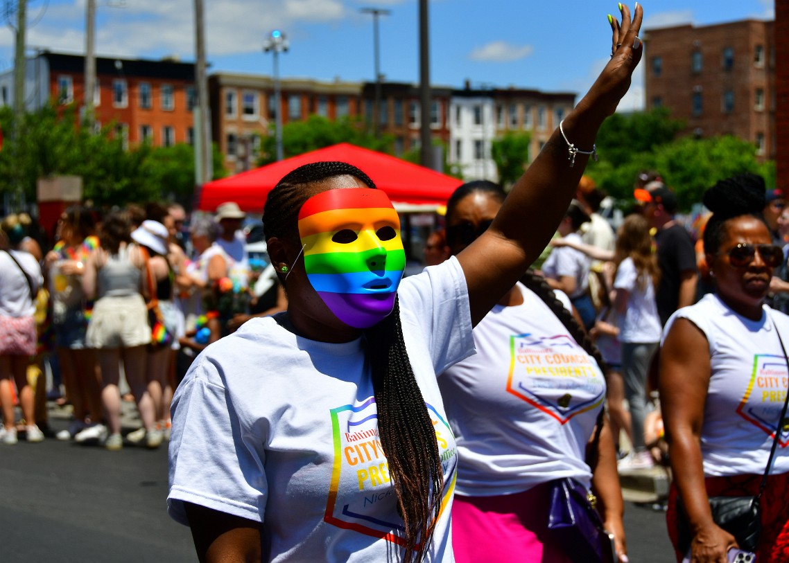
<instances>
[{"instance_id":1,"label":"narrow strip of dark red brick building along the right edge","mask_svg":"<svg viewBox=\"0 0 789 563\"><path fill-rule=\"evenodd\" d=\"M789 193L789 2L776 2L777 187Z\"/></svg>"}]
</instances>

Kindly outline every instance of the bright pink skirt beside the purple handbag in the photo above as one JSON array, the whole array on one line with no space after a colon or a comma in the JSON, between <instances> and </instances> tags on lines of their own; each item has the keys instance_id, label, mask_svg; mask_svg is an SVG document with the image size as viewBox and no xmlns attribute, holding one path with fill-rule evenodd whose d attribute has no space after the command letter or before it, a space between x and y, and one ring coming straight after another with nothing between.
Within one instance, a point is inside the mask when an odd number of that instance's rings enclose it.
<instances>
[{"instance_id":1,"label":"bright pink skirt beside the purple handbag","mask_svg":"<svg viewBox=\"0 0 789 563\"><path fill-rule=\"evenodd\" d=\"M548 483L522 493L461 497L452 504L457 563L572 563L548 530Z\"/></svg>"}]
</instances>

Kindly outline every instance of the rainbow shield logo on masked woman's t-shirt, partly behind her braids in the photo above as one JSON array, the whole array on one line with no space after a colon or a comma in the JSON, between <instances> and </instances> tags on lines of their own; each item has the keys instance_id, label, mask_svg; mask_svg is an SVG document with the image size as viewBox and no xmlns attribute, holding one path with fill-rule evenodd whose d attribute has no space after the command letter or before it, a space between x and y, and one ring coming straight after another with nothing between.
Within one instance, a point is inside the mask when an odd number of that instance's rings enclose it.
<instances>
[{"instance_id":1,"label":"rainbow shield logo on masked woman's t-shirt, partly behind her braids","mask_svg":"<svg viewBox=\"0 0 789 563\"><path fill-rule=\"evenodd\" d=\"M426 404L443 469L441 511L452 498L458 457L447 421ZM335 461L323 520L328 524L403 545L402 517L378 434L375 397L331 409Z\"/></svg>"}]
</instances>

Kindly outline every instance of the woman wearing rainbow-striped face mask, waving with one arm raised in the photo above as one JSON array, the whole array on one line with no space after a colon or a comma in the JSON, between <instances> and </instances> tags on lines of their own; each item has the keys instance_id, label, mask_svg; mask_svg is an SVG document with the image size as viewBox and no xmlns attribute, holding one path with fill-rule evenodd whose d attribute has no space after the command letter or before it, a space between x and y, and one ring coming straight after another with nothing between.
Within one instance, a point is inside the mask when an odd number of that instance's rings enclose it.
<instances>
[{"instance_id":1,"label":"woman wearing rainbow-striped face mask, waving with one arm raised","mask_svg":"<svg viewBox=\"0 0 789 563\"><path fill-rule=\"evenodd\" d=\"M398 215L353 166L301 166L268 194L288 309L208 346L174 397L168 507L201 561L453 560L457 453L436 373L473 351L473 324L548 243L630 84L641 17L623 8L600 80L446 263L400 283Z\"/></svg>"}]
</instances>

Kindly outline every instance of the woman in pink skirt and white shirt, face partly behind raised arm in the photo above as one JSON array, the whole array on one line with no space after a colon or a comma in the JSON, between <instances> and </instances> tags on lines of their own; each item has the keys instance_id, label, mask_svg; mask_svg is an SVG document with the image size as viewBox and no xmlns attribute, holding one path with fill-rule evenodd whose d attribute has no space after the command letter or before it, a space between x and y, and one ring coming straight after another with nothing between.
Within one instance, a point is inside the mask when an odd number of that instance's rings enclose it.
<instances>
[{"instance_id":1,"label":"woman in pink skirt and white shirt, face partly behind raised arm","mask_svg":"<svg viewBox=\"0 0 789 563\"><path fill-rule=\"evenodd\" d=\"M447 203L453 255L484 232L503 200L502 188L488 181L454 192ZM625 557L613 439L608 425L595 432L606 390L602 358L567 296L528 273L473 336L477 354L439 377L460 457L455 561L586 561L570 551L573 542L548 528L552 489L565 478L594 491Z\"/></svg>"}]
</instances>

